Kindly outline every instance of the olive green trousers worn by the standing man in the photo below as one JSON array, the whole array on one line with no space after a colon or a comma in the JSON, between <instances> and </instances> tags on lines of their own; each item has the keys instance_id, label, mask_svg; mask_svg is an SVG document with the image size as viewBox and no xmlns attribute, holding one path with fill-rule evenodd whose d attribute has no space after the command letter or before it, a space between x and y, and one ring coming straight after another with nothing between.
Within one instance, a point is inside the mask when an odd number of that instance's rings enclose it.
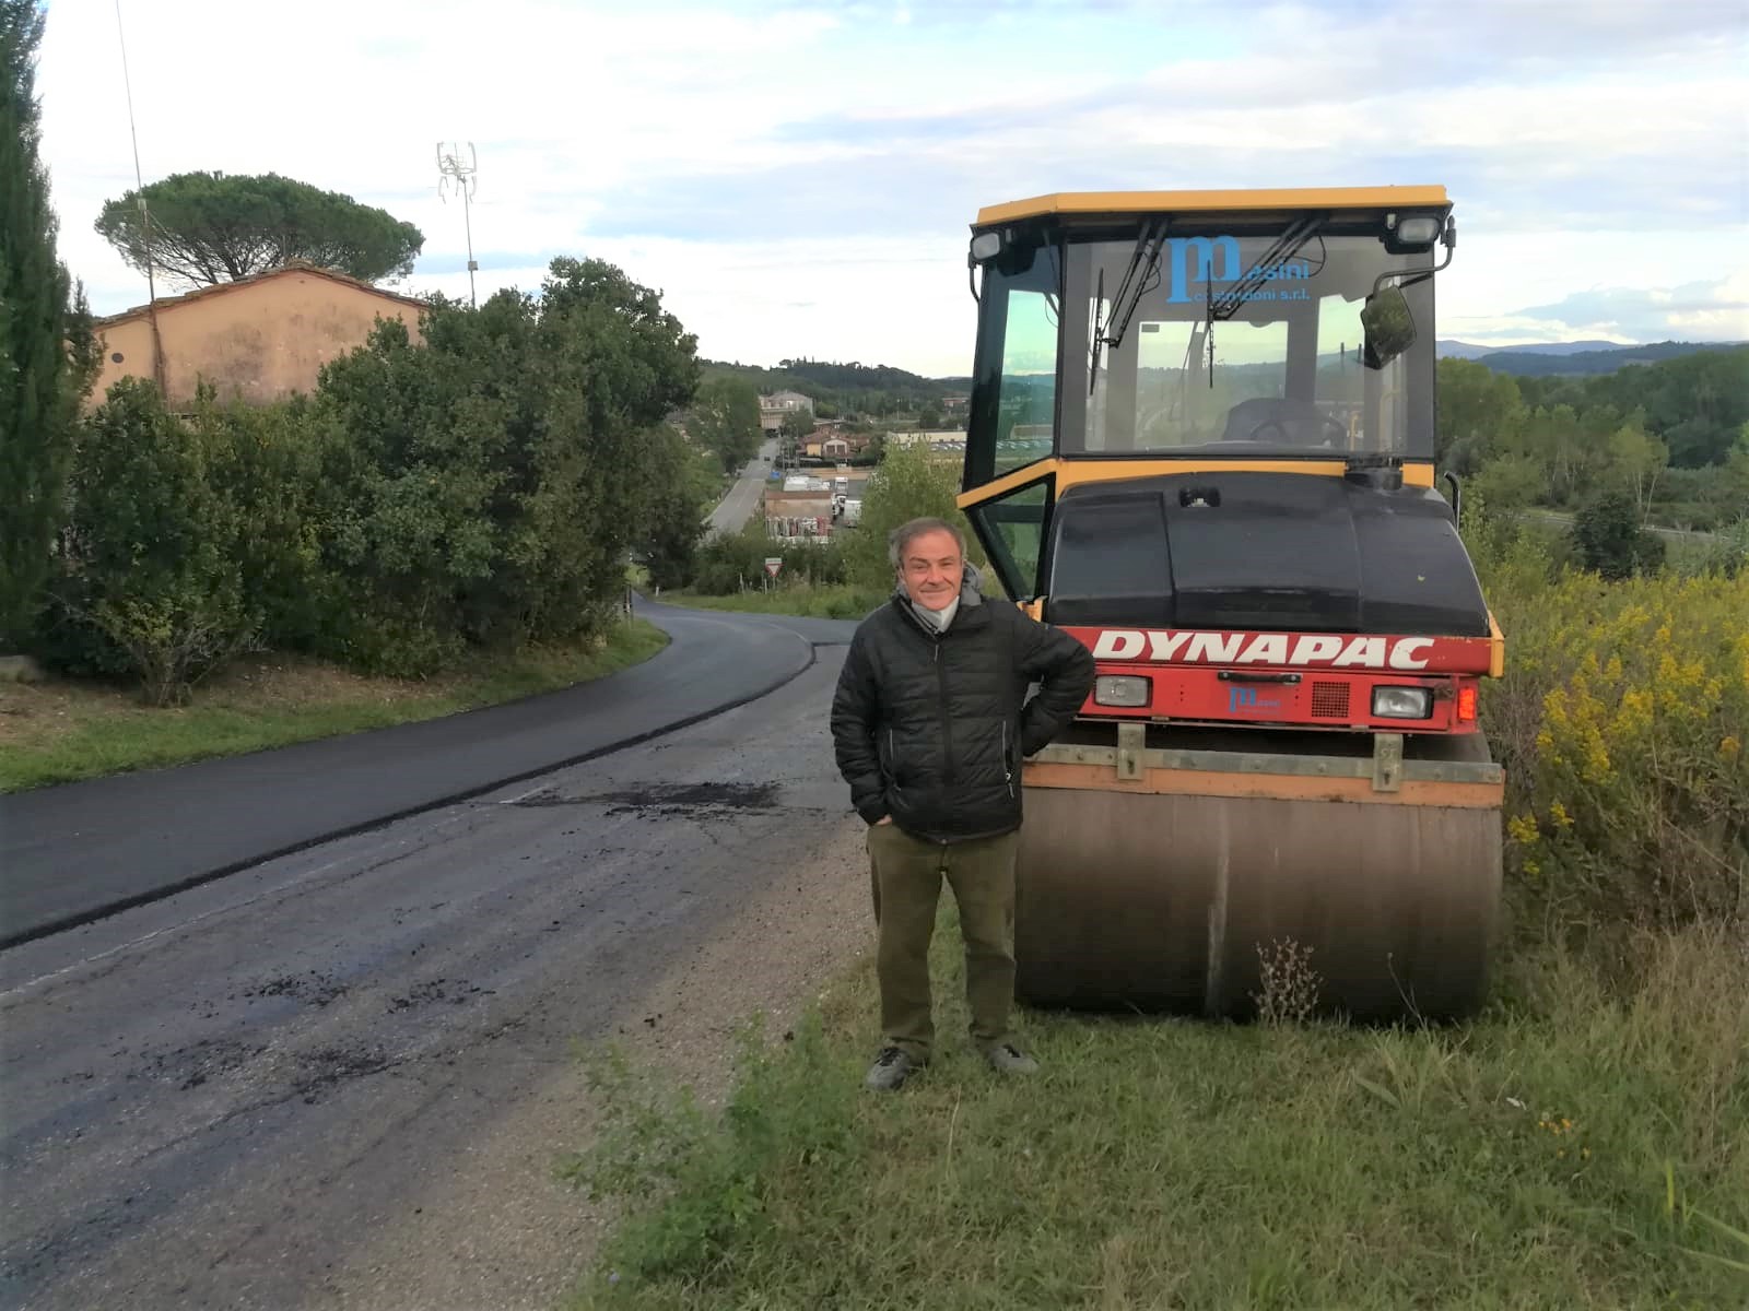
<instances>
[{"instance_id":1,"label":"olive green trousers worn by the standing man","mask_svg":"<svg viewBox=\"0 0 1749 1311\"><path fill-rule=\"evenodd\" d=\"M1014 855L1020 832L971 843L925 843L897 825L868 832L874 893L880 1023L887 1045L927 1061L936 1037L929 940L941 881L953 888L965 942L965 1005L979 1051L1004 1042L1014 1002Z\"/></svg>"}]
</instances>

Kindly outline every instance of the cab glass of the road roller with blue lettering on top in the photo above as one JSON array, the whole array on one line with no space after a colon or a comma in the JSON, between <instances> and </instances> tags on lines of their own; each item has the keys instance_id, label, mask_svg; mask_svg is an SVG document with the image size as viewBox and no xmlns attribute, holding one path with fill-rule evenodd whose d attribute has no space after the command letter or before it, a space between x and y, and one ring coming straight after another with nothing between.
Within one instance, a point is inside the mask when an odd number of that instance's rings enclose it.
<instances>
[{"instance_id":1,"label":"cab glass of the road roller with blue lettering on top","mask_svg":"<svg viewBox=\"0 0 1749 1311\"><path fill-rule=\"evenodd\" d=\"M1051 238L986 278L972 481L1053 449L1432 458L1434 280L1403 287L1415 336L1394 358L1369 358L1361 320L1378 274L1432 252L1394 255L1354 222L1286 252L1279 227L1137 236Z\"/></svg>"}]
</instances>

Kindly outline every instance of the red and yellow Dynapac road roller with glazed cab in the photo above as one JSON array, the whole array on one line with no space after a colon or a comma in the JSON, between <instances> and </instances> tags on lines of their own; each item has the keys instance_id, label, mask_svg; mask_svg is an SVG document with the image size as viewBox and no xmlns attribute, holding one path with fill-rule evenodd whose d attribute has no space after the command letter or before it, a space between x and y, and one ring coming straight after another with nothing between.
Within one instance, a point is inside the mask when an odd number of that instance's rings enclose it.
<instances>
[{"instance_id":1,"label":"red and yellow Dynapac road roller with glazed cab","mask_svg":"<svg viewBox=\"0 0 1749 1311\"><path fill-rule=\"evenodd\" d=\"M1020 769L1016 996L1245 1019L1481 1002L1504 638L1434 470L1445 187L978 213L958 505L1097 680ZM1272 970L1273 972L1273 970Z\"/></svg>"}]
</instances>

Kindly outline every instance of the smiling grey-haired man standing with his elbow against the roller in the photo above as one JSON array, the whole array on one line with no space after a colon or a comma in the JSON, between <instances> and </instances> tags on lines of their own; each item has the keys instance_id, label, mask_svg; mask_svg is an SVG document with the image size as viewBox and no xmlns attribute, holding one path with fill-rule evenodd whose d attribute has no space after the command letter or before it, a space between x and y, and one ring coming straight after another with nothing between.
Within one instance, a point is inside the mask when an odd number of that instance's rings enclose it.
<instances>
[{"instance_id":1,"label":"smiling grey-haired man standing with his elbow against the roller","mask_svg":"<svg viewBox=\"0 0 1749 1311\"><path fill-rule=\"evenodd\" d=\"M901 524L888 558L897 587L857 626L833 697L838 769L869 823L885 1045L868 1086L895 1089L929 1063L943 876L960 907L972 1042L995 1070L1032 1073L1007 1031L1020 766L1086 701L1093 656L1014 605L985 603L965 538L943 519Z\"/></svg>"}]
</instances>

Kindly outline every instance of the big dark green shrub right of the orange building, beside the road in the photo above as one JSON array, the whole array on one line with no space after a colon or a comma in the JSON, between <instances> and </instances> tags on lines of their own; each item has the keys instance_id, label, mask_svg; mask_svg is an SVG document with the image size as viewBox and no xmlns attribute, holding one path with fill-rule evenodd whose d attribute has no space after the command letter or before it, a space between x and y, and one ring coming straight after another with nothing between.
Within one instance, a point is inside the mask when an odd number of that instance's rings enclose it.
<instances>
[{"instance_id":1,"label":"big dark green shrub right of the orange building, beside the road","mask_svg":"<svg viewBox=\"0 0 1749 1311\"><path fill-rule=\"evenodd\" d=\"M325 568L348 605L324 638L420 675L467 647L600 633L652 509L649 434L696 381L654 292L598 260L553 262L539 299L436 302L423 344L383 322L327 365L318 406Z\"/></svg>"}]
</instances>

